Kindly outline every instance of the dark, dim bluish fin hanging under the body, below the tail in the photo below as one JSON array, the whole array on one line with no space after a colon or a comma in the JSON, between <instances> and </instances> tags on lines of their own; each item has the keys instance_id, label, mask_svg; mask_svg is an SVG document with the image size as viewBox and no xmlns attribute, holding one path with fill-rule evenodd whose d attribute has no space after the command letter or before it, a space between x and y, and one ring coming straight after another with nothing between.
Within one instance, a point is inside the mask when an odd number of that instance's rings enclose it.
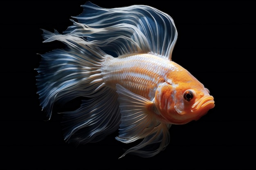
<instances>
[{"instance_id":1,"label":"dark, dim bluish fin hanging under the body, below the tail","mask_svg":"<svg viewBox=\"0 0 256 170\"><path fill-rule=\"evenodd\" d=\"M79 109L63 113L65 140L77 144L97 142L118 129L121 115L117 93L106 87L98 93L100 97L83 100Z\"/></svg>"}]
</instances>

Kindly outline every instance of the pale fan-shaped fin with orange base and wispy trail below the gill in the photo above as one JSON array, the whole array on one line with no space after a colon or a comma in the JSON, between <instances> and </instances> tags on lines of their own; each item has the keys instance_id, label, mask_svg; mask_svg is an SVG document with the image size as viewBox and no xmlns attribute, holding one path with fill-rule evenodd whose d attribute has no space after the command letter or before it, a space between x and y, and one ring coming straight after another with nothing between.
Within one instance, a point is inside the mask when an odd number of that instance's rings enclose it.
<instances>
[{"instance_id":1,"label":"pale fan-shaped fin with orange base and wispy trail below the gill","mask_svg":"<svg viewBox=\"0 0 256 170\"><path fill-rule=\"evenodd\" d=\"M128 153L140 157L153 157L164 150L170 140L168 130L171 125L160 123L155 119L154 113L148 109L153 102L119 84L117 84L117 93L121 124L116 139L123 143L131 143L144 138L140 144L128 149L121 157Z\"/></svg>"}]
</instances>

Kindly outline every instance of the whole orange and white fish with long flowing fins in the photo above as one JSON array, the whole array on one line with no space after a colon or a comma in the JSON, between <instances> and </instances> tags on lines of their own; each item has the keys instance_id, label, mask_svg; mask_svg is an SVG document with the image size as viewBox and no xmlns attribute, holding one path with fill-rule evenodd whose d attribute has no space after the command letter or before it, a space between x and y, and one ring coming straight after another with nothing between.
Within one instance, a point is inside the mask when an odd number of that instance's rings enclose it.
<instances>
[{"instance_id":1,"label":"whole orange and white fish with long flowing fins","mask_svg":"<svg viewBox=\"0 0 256 170\"><path fill-rule=\"evenodd\" d=\"M177 30L168 14L146 5L82 7L63 34L43 30L44 42L67 48L41 55L40 105L50 119L54 103L84 97L80 108L62 113L65 141L96 142L119 129L118 141L143 139L121 157L153 157L168 145L171 124L198 120L213 97L171 60Z\"/></svg>"}]
</instances>

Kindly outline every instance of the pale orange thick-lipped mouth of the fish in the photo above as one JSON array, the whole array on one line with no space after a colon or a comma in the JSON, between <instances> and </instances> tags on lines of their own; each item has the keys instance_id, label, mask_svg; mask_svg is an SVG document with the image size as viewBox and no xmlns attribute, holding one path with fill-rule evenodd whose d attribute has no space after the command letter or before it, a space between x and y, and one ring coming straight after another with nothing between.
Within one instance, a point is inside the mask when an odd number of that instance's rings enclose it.
<instances>
[{"instance_id":1,"label":"pale orange thick-lipped mouth of the fish","mask_svg":"<svg viewBox=\"0 0 256 170\"><path fill-rule=\"evenodd\" d=\"M197 102L195 102L191 108L191 112L193 112L193 110L197 110L199 108L207 108L208 110L213 108L215 106L214 104L214 100L213 100L213 96L204 96L202 98L200 98Z\"/></svg>"}]
</instances>

